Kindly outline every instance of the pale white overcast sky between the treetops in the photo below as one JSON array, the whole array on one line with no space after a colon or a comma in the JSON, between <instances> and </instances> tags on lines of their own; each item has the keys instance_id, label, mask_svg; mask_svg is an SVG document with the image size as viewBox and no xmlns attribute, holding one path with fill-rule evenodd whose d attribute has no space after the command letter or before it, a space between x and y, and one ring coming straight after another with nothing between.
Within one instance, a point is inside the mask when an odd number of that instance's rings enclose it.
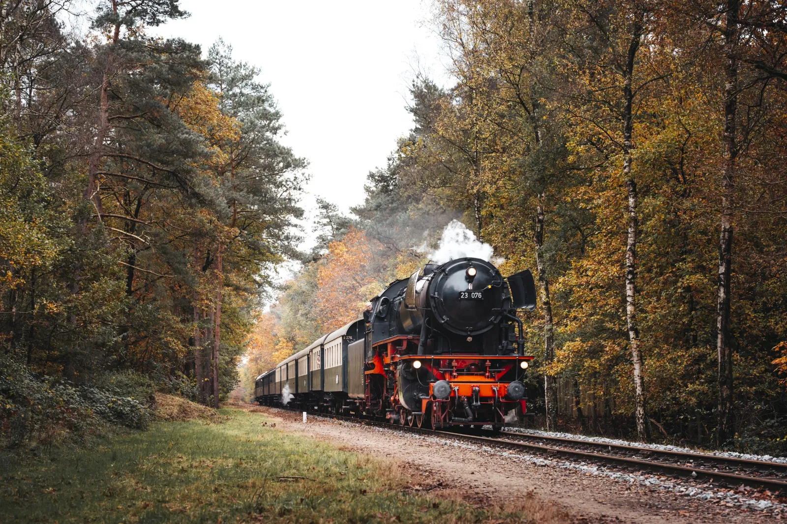
<instances>
[{"instance_id":1,"label":"pale white overcast sky between the treetops","mask_svg":"<svg viewBox=\"0 0 787 524\"><path fill-rule=\"evenodd\" d=\"M348 209L364 200L368 172L383 167L412 126L405 106L416 71L447 83L428 0L286 2L182 0L191 13L157 29L207 51L219 37L271 83L287 136L309 160L313 197Z\"/></svg>"}]
</instances>

